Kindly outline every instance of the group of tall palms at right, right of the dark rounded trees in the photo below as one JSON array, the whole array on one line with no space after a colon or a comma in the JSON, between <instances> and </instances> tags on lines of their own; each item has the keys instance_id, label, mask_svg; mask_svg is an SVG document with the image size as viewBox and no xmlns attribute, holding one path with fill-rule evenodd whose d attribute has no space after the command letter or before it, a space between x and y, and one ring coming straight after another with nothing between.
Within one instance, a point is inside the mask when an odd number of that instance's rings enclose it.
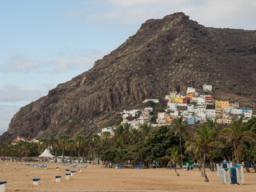
<instances>
[{"instance_id":1,"label":"group of tall palms at right, right of the dark rounded trees","mask_svg":"<svg viewBox=\"0 0 256 192\"><path fill-rule=\"evenodd\" d=\"M207 119L207 123L203 123L201 128L193 128L195 134L189 140L186 141L185 152L188 153L189 151L193 151L194 154L198 154L198 156L201 159L200 162L202 162L202 176L205 177L206 182L209 182L209 179L207 178L205 171L206 156L210 154L213 148L223 148L225 146L225 143L220 142L219 138L224 137L226 138L226 142L233 143L235 161L238 164L241 162L242 143L244 141L256 141L256 134L254 132L256 124L254 123L253 126L248 127L244 123L242 123L242 119L243 116L238 120L233 120L230 123L230 126L224 129L220 129L218 127L218 124L216 122L217 119L215 119L214 121ZM173 161L176 162L177 157L181 158L180 162L182 165L182 158L184 157L182 154L182 135L188 134L186 125L182 121L182 117L174 119L172 130L174 130L174 133L178 135L180 139L180 154L177 153L177 150L173 150L171 159L173 159Z\"/></svg>"}]
</instances>

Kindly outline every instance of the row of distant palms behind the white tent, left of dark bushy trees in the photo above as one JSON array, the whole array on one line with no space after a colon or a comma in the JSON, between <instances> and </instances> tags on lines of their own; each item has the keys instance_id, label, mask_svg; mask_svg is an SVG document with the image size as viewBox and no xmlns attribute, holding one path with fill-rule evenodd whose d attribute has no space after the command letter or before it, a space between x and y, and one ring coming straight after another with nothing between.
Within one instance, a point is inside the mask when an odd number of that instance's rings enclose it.
<instances>
[{"instance_id":1,"label":"row of distant palms behind the white tent, left of dark bushy trees","mask_svg":"<svg viewBox=\"0 0 256 192\"><path fill-rule=\"evenodd\" d=\"M70 162L74 155L78 157L78 162L80 162L81 160L85 161L85 158L100 158L101 154L110 147L119 150L129 148L144 140L150 133L150 129L151 127L147 124L142 125L140 130L137 130L131 128L130 124L124 123L114 130L114 137L111 137L109 132L103 132L102 138L98 134L93 134L90 138L84 138L82 135L77 135L75 138L62 135L56 138L54 135L50 135L49 138L40 139L39 143L18 142L16 145L12 145L8 141L0 146L0 155L18 158L36 157L43 150L50 147L55 162L57 162L57 156L60 152L62 162L64 162L65 154L70 156Z\"/></svg>"}]
</instances>

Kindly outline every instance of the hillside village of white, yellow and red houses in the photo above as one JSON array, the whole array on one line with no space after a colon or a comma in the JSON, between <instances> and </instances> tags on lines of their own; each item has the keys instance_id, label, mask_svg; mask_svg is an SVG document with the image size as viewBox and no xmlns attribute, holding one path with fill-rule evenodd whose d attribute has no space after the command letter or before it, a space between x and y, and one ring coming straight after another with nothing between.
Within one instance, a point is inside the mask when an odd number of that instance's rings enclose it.
<instances>
[{"instance_id":1,"label":"hillside village of white, yellow and red houses","mask_svg":"<svg viewBox=\"0 0 256 192\"><path fill-rule=\"evenodd\" d=\"M217 119L217 123L229 124L232 118L240 118L244 115L242 122L248 122L255 117L252 110L239 107L238 102L219 101L211 95L212 86L203 85L200 93L193 87L178 93L170 92L165 99L159 101L156 98L145 99L142 103L146 105L143 110L123 110L121 124L128 123L131 128L140 129L144 123L148 126L171 126L175 118L183 118L187 125L206 122L207 118ZM156 111L161 108L162 111ZM109 132L114 135L115 126L102 129L99 135Z\"/></svg>"}]
</instances>

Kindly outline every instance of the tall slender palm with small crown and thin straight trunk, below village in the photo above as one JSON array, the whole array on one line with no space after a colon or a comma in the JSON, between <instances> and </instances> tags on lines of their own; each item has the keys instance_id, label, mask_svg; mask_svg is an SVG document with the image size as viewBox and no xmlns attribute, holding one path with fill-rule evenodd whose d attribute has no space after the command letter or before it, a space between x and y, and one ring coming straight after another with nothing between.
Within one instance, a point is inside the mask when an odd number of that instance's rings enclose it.
<instances>
[{"instance_id":1,"label":"tall slender palm with small crown and thin straight trunk, below village","mask_svg":"<svg viewBox=\"0 0 256 192\"><path fill-rule=\"evenodd\" d=\"M174 135L178 135L179 137L179 150L180 154L182 154L182 134L186 133L186 125L183 122L183 117L175 118L173 122L173 126L171 127L171 130L174 131ZM181 158L181 167L183 166L183 159Z\"/></svg>"}]
</instances>

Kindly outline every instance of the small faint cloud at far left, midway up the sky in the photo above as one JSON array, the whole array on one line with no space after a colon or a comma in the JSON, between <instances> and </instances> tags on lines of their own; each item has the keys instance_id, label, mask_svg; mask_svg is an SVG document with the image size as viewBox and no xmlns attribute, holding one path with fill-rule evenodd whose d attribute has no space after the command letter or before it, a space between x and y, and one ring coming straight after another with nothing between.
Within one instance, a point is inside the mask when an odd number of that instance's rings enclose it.
<instances>
[{"instance_id":1,"label":"small faint cloud at far left, midway up the sky","mask_svg":"<svg viewBox=\"0 0 256 192\"><path fill-rule=\"evenodd\" d=\"M40 65L40 62L26 58L21 54L12 55L9 61L6 63L5 71L6 72L20 72L20 71L29 71L35 69Z\"/></svg>"}]
</instances>

